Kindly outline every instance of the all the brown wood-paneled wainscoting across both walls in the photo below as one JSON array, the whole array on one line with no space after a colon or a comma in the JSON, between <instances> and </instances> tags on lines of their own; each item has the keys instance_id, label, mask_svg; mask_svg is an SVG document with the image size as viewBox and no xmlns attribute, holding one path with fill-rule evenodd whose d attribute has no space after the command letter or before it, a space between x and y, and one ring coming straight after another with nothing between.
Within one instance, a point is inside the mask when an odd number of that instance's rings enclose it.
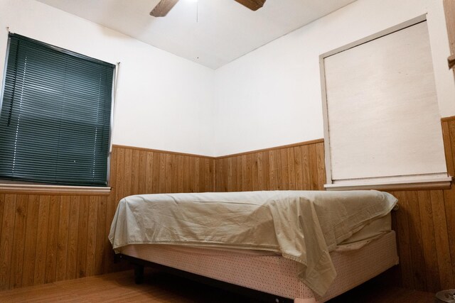
<instances>
[{"instance_id":1,"label":"all the brown wood-paneled wainscoting across both walls","mask_svg":"<svg viewBox=\"0 0 455 303\"><path fill-rule=\"evenodd\" d=\"M442 120L449 174L455 175L455 117ZM107 195L0 192L0 290L123 269L107 240L119 199L159 192L321 190L323 140L219 158L114 145ZM455 187L391 192L400 265L396 286L455 288Z\"/></svg>"}]
</instances>

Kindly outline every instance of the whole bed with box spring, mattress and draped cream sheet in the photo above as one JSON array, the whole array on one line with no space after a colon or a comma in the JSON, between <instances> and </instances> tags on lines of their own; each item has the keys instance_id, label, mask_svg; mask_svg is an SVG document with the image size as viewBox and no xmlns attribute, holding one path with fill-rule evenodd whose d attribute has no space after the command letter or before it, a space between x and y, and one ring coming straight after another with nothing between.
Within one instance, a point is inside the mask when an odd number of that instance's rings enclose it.
<instances>
[{"instance_id":1,"label":"whole bed with box spring, mattress and draped cream sheet","mask_svg":"<svg viewBox=\"0 0 455 303\"><path fill-rule=\"evenodd\" d=\"M135 195L119 202L109 240L135 260L326 302L397 264L396 203L378 191Z\"/></svg>"}]
</instances>

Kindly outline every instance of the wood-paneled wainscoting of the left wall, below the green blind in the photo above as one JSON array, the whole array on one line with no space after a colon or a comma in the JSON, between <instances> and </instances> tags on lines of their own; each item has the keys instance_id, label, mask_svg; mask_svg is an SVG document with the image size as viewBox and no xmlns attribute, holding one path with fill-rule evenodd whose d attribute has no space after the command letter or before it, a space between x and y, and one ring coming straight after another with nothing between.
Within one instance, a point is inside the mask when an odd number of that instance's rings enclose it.
<instances>
[{"instance_id":1,"label":"wood-paneled wainscoting of the left wall, below the green blind","mask_svg":"<svg viewBox=\"0 0 455 303\"><path fill-rule=\"evenodd\" d=\"M0 191L0 290L122 269L107 240L122 197L213 192L214 159L114 145L110 194Z\"/></svg>"}]
</instances>

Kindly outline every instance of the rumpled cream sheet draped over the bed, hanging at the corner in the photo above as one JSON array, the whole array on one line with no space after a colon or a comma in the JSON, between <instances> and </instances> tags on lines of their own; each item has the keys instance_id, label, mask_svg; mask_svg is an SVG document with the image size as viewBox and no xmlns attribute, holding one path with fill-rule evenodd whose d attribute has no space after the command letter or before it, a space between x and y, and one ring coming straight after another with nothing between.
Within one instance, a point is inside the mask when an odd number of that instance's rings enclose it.
<instances>
[{"instance_id":1,"label":"rumpled cream sheet draped over the bed, hanging at the corner","mask_svg":"<svg viewBox=\"0 0 455 303\"><path fill-rule=\"evenodd\" d=\"M298 262L323 295L336 277L329 252L395 206L377 191L144 194L119 202L109 240L268 250Z\"/></svg>"}]
</instances>

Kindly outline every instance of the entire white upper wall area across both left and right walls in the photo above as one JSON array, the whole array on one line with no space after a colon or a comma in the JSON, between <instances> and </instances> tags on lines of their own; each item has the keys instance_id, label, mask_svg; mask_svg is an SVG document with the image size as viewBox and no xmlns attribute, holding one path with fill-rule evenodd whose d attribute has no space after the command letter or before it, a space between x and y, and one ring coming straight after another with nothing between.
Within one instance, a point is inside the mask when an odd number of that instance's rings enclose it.
<instances>
[{"instance_id":1,"label":"entire white upper wall area across both left and right walls","mask_svg":"<svg viewBox=\"0 0 455 303\"><path fill-rule=\"evenodd\" d=\"M424 13L441 116L454 116L439 0L358 0L215 71L37 1L0 0L0 73L7 26L121 62L113 143L227 155L323 138L319 55Z\"/></svg>"}]
</instances>

